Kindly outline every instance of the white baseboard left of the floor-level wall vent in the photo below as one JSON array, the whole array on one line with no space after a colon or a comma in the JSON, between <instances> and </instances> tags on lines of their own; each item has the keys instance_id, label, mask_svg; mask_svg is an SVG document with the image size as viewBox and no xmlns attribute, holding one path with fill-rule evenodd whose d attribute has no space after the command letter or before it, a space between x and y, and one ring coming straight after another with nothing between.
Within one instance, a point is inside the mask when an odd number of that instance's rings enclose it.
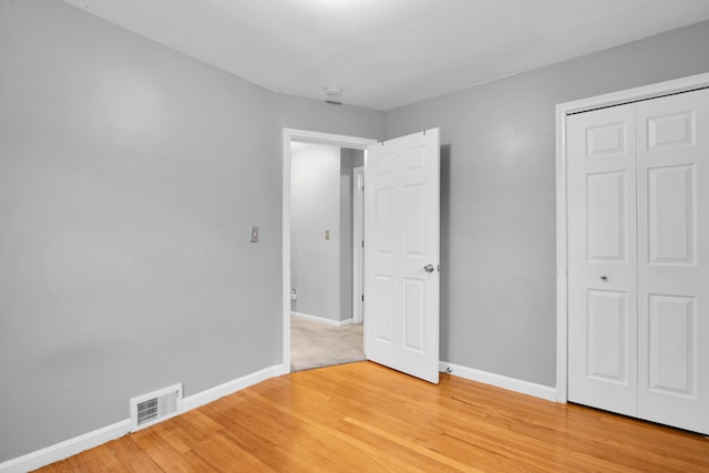
<instances>
[{"instance_id":1,"label":"white baseboard left of the floor-level wall vent","mask_svg":"<svg viewBox=\"0 0 709 473\"><path fill-rule=\"evenodd\" d=\"M69 456L81 453L84 450L93 449L112 440L119 439L131 431L131 420L126 419L92 432L84 433L73 439L55 443L35 452L28 453L17 459L0 463L1 473L21 473L40 469L50 463L64 460Z\"/></svg>"}]
</instances>

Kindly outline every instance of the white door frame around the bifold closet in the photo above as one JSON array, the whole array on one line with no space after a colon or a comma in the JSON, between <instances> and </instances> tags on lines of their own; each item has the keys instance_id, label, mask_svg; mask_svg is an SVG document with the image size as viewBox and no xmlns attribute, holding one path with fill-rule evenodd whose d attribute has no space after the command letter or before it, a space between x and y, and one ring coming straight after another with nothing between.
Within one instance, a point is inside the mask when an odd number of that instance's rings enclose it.
<instances>
[{"instance_id":1,"label":"white door frame around the bifold closet","mask_svg":"<svg viewBox=\"0 0 709 473\"><path fill-rule=\"evenodd\" d=\"M709 86L709 73L556 105L556 401L567 402L568 382L568 220L566 115L655 99Z\"/></svg>"}]
</instances>

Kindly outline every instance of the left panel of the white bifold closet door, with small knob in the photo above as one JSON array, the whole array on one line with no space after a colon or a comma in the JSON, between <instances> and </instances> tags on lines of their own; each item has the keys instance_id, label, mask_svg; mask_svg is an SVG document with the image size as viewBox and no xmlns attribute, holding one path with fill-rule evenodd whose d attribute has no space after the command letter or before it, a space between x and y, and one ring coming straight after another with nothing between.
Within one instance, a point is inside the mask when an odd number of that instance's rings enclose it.
<instances>
[{"instance_id":1,"label":"left panel of the white bifold closet door, with small knob","mask_svg":"<svg viewBox=\"0 0 709 473\"><path fill-rule=\"evenodd\" d=\"M636 415L635 109L566 123L568 399Z\"/></svg>"}]
</instances>

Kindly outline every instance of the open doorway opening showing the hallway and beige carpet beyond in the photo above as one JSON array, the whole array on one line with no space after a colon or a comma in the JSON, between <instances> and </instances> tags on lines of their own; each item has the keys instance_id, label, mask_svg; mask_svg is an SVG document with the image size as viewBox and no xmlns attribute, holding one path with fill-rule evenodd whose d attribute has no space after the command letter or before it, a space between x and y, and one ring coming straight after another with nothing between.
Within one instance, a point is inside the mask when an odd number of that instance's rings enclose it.
<instances>
[{"instance_id":1,"label":"open doorway opening showing the hallway and beige carpet beyond","mask_svg":"<svg viewBox=\"0 0 709 473\"><path fill-rule=\"evenodd\" d=\"M353 276L356 264L363 265L353 244L363 224L353 218L353 203L363 197L354 192L354 168L363 165L361 150L291 143L291 371L364 360L354 317L363 291Z\"/></svg>"}]
</instances>

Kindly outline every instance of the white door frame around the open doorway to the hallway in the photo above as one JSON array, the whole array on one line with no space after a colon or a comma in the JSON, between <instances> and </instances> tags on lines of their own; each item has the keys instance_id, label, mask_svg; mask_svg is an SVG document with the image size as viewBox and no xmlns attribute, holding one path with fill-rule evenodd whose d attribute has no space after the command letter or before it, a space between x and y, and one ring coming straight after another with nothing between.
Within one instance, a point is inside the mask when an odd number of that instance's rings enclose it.
<instances>
[{"instance_id":1,"label":"white door frame around the open doorway to the hallway","mask_svg":"<svg viewBox=\"0 0 709 473\"><path fill-rule=\"evenodd\" d=\"M290 371L290 143L305 141L310 143L327 144L347 147L351 150L367 150L377 140L357 136L333 135L330 133L311 132L306 130L284 128L282 135L282 363L286 372ZM364 153L367 165L367 153Z\"/></svg>"}]
</instances>

